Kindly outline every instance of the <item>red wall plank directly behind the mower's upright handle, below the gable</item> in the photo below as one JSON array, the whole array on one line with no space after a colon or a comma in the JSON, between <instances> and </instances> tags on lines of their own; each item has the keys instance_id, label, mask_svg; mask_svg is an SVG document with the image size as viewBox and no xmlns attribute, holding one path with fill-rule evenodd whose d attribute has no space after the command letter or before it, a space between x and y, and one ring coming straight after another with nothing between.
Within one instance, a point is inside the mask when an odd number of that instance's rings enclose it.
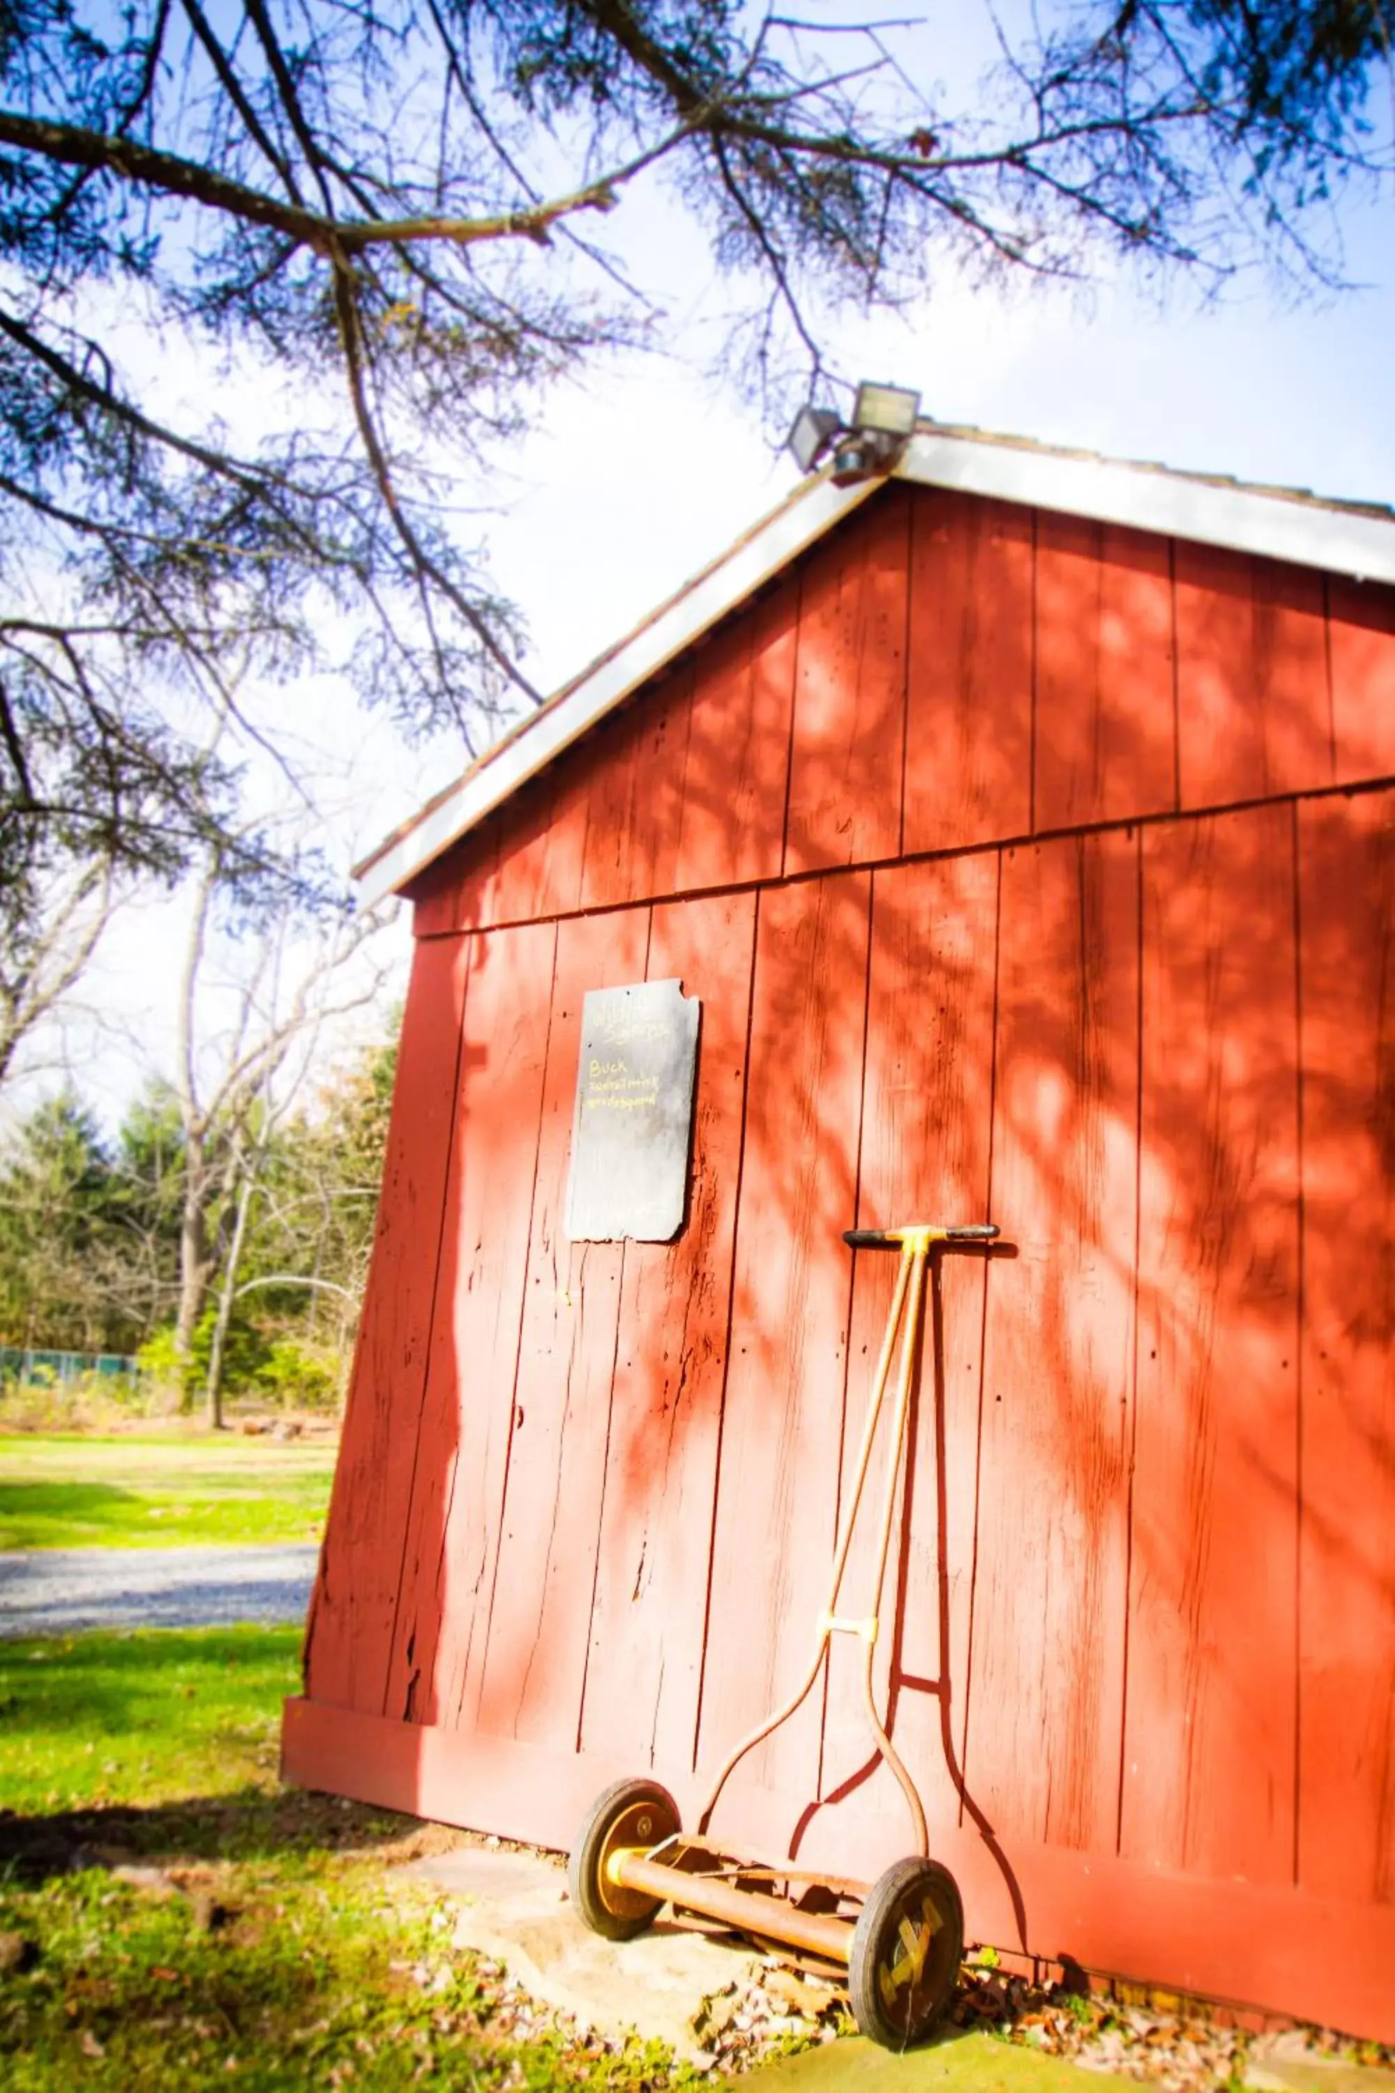
<instances>
[{"instance_id":1,"label":"red wall plank directly behind the mower's upright handle, below the gable","mask_svg":"<svg viewBox=\"0 0 1395 2093\"><path fill-rule=\"evenodd\" d=\"M998 852L874 875L857 1226L989 1218L996 944ZM841 1503L895 1266L885 1252L857 1252ZM891 1735L933 1825L958 1825L960 1815L983 1285L981 1254L950 1256L935 1302L927 1304L908 1480L881 1605L878 1706L891 1714ZM870 1610L885 1430L866 1488L847 1566L849 1614ZM857 1660L860 1645L839 1643L832 1651L822 1794L839 1798L857 1781L857 1804L901 1817L906 1806L887 1769L868 1773Z\"/></svg>"}]
</instances>

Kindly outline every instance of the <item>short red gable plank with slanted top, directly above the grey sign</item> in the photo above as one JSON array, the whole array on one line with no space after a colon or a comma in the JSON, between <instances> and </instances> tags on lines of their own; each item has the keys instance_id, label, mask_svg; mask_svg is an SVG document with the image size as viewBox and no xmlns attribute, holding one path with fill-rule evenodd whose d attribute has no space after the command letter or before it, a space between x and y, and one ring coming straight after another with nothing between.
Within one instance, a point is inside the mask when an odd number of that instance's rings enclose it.
<instances>
[{"instance_id":1,"label":"short red gable plank with slanted top, directly above the grey sign","mask_svg":"<svg viewBox=\"0 0 1395 2093\"><path fill-rule=\"evenodd\" d=\"M584 908L673 892L690 699L692 670L682 663L648 682L596 737Z\"/></svg>"}]
</instances>

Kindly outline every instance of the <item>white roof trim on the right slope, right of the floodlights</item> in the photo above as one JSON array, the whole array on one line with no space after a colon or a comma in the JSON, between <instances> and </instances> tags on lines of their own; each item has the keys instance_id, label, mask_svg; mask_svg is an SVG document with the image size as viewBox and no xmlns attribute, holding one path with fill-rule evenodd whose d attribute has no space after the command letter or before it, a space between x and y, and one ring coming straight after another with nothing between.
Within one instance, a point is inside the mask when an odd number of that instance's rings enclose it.
<instances>
[{"instance_id":1,"label":"white roof trim on the right slope, right of the floodlights","mask_svg":"<svg viewBox=\"0 0 1395 2093\"><path fill-rule=\"evenodd\" d=\"M1031 509L1054 509L1094 523L1127 523L1234 553L1290 559L1301 567L1353 573L1366 582L1395 582L1395 517L1339 509L1301 494L929 429L906 446L897 477L924 488L960 488Z\"/></svg>"}]
</instances>

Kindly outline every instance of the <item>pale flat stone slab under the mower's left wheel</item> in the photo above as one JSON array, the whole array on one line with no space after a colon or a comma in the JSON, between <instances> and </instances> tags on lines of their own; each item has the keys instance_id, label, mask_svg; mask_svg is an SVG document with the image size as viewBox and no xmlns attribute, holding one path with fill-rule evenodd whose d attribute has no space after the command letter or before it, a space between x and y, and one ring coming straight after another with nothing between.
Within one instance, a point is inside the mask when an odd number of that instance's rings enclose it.
<instances>
[{"instance_id":1,"label":"pale flat stone slab under the mower's left wheel","mask_svg":"<svg viewBox=\"0 0 1395 2093\"><path fill-rule=\"evenodd\" d=\"M703 2001L753 1967L749 1946L663 1919L636 1940L602 1940L571 1909L561 1861L456 1846L404 1873L458 1896L456 1946L491 1955L544 2005L604 2034L667 2043L692 2062L709 2062L692 2030Z\"/></svg>"}]
</instances>

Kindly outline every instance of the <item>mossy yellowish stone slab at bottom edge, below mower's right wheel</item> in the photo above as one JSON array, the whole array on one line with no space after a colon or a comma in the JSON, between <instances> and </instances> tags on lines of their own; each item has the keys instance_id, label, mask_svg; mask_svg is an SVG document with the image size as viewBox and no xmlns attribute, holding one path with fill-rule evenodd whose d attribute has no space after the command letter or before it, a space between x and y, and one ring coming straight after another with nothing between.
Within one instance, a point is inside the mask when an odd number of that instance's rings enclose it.
<instances>
[{"instance_id":1,"label":"mossy yellowish stone slab at bottom edge, below mower's right wheel","mask_svg":"<svg viewBox=\"0 0 1395 2093\"><path fill-rule=\"evenodd\" d=\"M751 2074L751 2093L1100 2093L1100 2074L973 2028L924 2049L878 2049L853 2034Z\"/></svg>"}]
</instances>

